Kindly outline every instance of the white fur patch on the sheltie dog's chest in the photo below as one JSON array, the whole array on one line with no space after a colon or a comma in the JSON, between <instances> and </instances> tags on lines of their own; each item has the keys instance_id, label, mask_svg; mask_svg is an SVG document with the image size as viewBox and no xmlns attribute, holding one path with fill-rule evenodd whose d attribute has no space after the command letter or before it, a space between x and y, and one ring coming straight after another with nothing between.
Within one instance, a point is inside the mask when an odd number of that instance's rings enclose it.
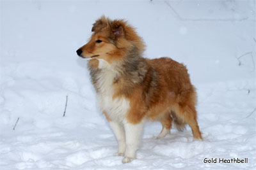
<instances>
[{"instance_id":1,"label":"white fur patch on the sheltie dog's chest","mask_svg":"<svg viewBox=\"0 0 256 170\"><path fill-rule=\"evenodd\" d=\"M101 111L105 111L111 120L123 122L130 108L129 100L124 97L115 97L113 81L116 77L114 71L105 69L97 75L97 101Z\"/></svg>"}]
</instances>

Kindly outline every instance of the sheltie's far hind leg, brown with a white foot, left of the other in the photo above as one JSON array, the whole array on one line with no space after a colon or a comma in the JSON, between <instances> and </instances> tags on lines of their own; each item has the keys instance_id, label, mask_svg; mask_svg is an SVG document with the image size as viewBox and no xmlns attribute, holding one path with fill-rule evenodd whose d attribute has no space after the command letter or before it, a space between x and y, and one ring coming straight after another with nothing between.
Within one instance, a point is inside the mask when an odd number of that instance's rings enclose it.
<instances>
[{"instance_id":1,"label":"sheltie's far hind leg, brown with a white foot, left of the other","mask_svg":"<svg viewBox=\"0 0 256 170\"><path fill-rule=\"evenodd\" d=\"M163 126L162 131L160 134L156 137L156 139L161 139L166 136L166 134L170 134L170 129L172 128L172 117L170 113L166 114L162 119L161 119L161 124Z\"/></svg>"}]
</instances>

